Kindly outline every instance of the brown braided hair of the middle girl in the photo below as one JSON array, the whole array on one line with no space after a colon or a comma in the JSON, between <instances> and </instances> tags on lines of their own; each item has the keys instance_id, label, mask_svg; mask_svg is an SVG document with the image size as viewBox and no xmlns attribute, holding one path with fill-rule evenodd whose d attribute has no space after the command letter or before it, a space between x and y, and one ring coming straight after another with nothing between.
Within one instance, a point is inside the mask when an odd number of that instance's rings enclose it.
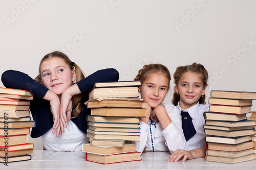
<instances>
[{"instance_id":1,"label":"brown braided hair of the middle girl","mask_svg":"<svg viewBox=\"0 0 256 170\"><path fill-rule=\"evenodd\" d=\"M142 84L153 73L161 73L163 74L164 77L166 77L170 81L170 72L168 68L162 64L144 65L143 68L139 70L138 75L134 80L141 80L141 84Z\"/></svg>"}]
</instances>

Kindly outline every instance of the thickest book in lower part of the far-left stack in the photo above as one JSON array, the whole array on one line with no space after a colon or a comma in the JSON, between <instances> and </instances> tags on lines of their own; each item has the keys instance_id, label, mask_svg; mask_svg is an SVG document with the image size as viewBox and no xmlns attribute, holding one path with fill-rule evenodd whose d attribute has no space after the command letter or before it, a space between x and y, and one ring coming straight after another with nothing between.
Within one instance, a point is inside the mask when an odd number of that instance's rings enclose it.
<instances>
[{"instance_id":1,"label":"thickest book in lower part of the far-left stack","mask_svg":"<svg viewBox=\"0 0 256 170\"><path fill-rule=\"evenodd\" d=\"M0 147L28 143L28 135L0 136Z\"/></svg>"}]
</instances>

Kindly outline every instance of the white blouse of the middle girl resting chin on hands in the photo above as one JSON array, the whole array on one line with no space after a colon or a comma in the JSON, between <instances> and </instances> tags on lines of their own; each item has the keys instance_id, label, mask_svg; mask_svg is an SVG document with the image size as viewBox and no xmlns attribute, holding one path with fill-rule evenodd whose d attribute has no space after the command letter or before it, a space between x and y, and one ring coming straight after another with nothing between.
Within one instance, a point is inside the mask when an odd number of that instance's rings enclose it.
<instances>
[{"instance_id":1,"label":"white blouse of the middle girl resting chin on hands","mask_svg":"<svg viewBox=\"0 0 256 170\"><path fill-rule=\"evenodd\" d=\"M182 130L182 122L180 117L180 110L173 104L163 104L168 116L172 120L164 130L160 122L148 120L145 124L140 120L140 142L136 143L136 150L140 153L146 151L170 151L170 153L177 149L187 149L186 139Z\"/></svg>"}]
</instances>

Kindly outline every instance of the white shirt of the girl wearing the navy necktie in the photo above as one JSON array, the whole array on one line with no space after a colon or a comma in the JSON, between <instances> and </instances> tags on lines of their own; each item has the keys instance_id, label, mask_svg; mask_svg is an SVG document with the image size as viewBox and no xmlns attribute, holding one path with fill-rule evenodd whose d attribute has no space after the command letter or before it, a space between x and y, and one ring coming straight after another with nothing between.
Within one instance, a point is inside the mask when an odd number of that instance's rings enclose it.
<instances>
[{"instance_id":1,"label":"white shirt of the girl wearing the navy necktie","mask_svg":"<svg viewBox=\"0 0 256 170\"><path fill-rule=\"evenodd\" d=\"M177 105L177 108L182 111L187 111L188 114L192 118L192 123L197 131L197 133L191 137L187 141L188 148L187 150L193 150L193 149L198 149L206 146L205 142L205 133L204 133L204 124L205 124L205 119L204 119L204 112L209 111L209 105L203 105L199 104L199 102L190 107L189 109L183 110L180 107L180 102ZM181 118L181 115L180 115Z\"/></svg>"}]
</instances>

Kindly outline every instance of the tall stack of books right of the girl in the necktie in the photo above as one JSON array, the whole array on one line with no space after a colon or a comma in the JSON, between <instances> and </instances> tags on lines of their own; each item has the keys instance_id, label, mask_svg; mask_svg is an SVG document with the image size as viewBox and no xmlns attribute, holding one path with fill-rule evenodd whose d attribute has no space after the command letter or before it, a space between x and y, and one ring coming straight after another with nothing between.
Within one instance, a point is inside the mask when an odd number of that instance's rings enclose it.
<instances>
[{"instance_id":1,"label":"tall stack of books right of the girl in the necktie","mask_svg":"<svg viewBox=\"0 0 256 170\"><path fill-rule=\"evenodd\" d=\"M247 120L255 92L211 91L209 112L204 113L206 161L238 163L255 159L255 122Z\"/></svg>"}]
</instances>

